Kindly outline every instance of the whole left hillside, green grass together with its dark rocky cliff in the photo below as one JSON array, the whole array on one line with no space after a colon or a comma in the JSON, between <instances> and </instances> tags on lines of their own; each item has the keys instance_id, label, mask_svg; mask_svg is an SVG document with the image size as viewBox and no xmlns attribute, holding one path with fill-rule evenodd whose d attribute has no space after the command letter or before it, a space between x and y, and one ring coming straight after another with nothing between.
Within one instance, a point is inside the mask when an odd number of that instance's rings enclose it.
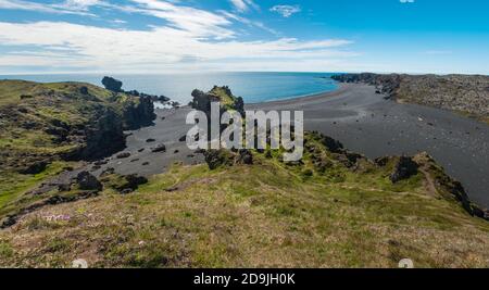
<instances>
[{"instance_id":1,"label":"whole left hillside, green grass together with its dark rocky cliff","mask_svg":"<svg viewBox=\"0 0 489 290\"><path fill-rule=\"evenodd\" d=\"M151 122L152 110L89 84L0 80L0 217L77 161L123 149L123 130Z\"/></svg>"}]
</instances>

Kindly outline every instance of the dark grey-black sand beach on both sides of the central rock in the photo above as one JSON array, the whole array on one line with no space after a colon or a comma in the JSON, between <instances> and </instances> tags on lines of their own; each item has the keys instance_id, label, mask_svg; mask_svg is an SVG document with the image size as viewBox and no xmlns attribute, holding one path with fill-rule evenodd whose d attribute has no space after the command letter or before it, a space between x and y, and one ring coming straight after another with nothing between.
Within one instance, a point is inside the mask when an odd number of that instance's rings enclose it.
<instances>
[{"instance_id":1,"label":"dark grey-black sand beach on both sides of the central rock","mask_svg":"<svg viewBox=\"0 0 489 290\"><path fill-rule=\"evenodd\" d=\"M426 151L450 176L462 181L473 201L489 206L489 126L449 111L399 104L384 97L375 93L372 86L342 85L334 92L248 104L247 110L302 110L305 129L338 139L348 149L371 159ZM150 176L164 172L176 161L202 162L200 154L178 140L190 127L185 124L189 111L156 110L154 126L133 131L127 138L124 152L131 156L118 160L114 155L102 169L114 167L122 174ZM148 143L148 138L156 141ZM166 146L165 153L150 151L158 143ZM145 150L138 152L140 149ZM149 165L143 166L145 162Z\"/></svg>"}]
</instances>

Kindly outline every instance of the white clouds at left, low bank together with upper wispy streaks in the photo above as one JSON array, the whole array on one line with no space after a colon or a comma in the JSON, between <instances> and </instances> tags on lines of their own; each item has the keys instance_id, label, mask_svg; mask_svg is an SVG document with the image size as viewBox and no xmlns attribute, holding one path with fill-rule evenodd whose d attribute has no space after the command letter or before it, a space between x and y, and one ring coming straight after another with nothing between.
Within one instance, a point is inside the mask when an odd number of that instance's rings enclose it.
<instances>
[{"instance_id":1,"label":"white clouds at left, low bank together with upper wispy streaks","mask_svg":"<svg viewBox=\"0 0 489 290\"><path fill-rule=\"evenodd\" d=\"M291 63L294 65L289 70L299 70L308 63L308 71L327 71L321 66L359 55L348 50L352 42L346 39L278 37L277 31L262 22L237 12L206 11L180 1L128 0L115 4L108 0L70 0L39 4L0 0L0 9L37 9L46 13L93 13L97 11L93 7L124 12L127 16L156 17L161 22L152 22L146 29L129 28L130 21L118 20L108 21L112 24L109 27L66 20L0 22L0 71L11 67L50 67L57 72L261 71L274 66L285 70L283 66ZM244 41L240 39L242 27L236 27L236 23L266 30L272 37Z\"/></svg>"}]
</instances>

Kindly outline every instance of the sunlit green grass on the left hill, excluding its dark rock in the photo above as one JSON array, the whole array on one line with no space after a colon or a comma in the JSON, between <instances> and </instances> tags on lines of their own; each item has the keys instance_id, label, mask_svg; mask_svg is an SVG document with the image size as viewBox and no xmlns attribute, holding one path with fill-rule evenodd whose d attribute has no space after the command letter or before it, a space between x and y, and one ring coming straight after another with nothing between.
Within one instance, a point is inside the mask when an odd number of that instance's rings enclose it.
<instances>
[{"instance_id":1,"label":"sunlit green grass on the left hill, excluding its dark rock","mask_svg":"<svg viewBox=\"0 0 489 290\"><path fill-rule=\"evenodd\" d=\"M88 94L80 92L82 87L88 89ZM3 153L0 155L0 216L24 192L38 187L63 167L76 166L76 163L59 160L59 155L75 150L80 143L58 143L45 129L58 121L84 128L93 117L93 108L121 110L127 102L137 102L137 99L125 93L114 96L89 84L0 80L0 152ZM27 123L35 127L23 127ZM24 162L46 159L58 161L38 175L23 175L17 171Z\"/></svg>"}]
</instances>

